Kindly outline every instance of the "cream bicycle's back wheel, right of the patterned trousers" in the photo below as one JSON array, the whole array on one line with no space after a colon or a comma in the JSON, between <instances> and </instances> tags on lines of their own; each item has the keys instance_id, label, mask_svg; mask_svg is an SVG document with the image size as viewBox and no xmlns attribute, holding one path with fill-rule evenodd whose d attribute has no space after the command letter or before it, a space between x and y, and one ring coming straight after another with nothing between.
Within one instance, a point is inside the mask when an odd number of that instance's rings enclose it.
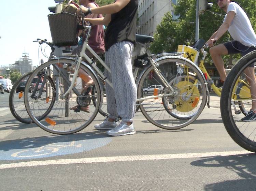
<instances>
[{"instance_id":1,"label":"cream bicycle's back wheel, right of the patterned trousers","mask_svg":"<svg viewBox=\"0 0 256 191\"><path fill-rule=\"evenodd\" d=\"M184 75L184 72L186 72L186 70L189 71L187 74L193 74L193 76L198 80L198 83L193 85L191 82L187 81L182 82L183 84L176 84L175 86L170 84L177 92L175 96L164 96L162 97L162 99L158 100L146 100L143 101L144 103L141 101L139 102L141 112L148 121L150 121L157 127L163 129L180 129L186 127L188 124L192 123L194 120L197 119L197 117L203 111L203 108L205 107L205 104L207 102L207 89L200 69L194 64L191 64L179 57L163 58L157 61L157 63L159 64L158 69L161 71L161 74L167 79L169 84L175 75L176 77ZM186 68L186 70L180 70L178 66ZM138 98L142 98L141 90L143 89L145 84L148 85L150 75L152 76L152 74L150 74L152 70L153 66L148 67L139 77L138 90L140 91L138 91ZM180 73L177 72L178 70ZM165 94L170 93L170 90L164 86L158 75L154 76L153 74L151 82L153 84L150 85L162 85L164 87L163 91ZM199 86L200 88L198 88ZM190 87L191 89L193 89L193 92L186 95L186 92L189 92L189 90L187 90L186 88ZM194 93L195 90L197 90L197 93ZM148 96L151 96L151 94L149 94ZM144 94L144 98L145 97L147 97L147 94ZM163 99L168 99L168 102L162 102ZM193 103L195 102L195 100L197 100L195 106L191 107L189 99L193 99ZM169 105L169 102L172 101L173 103ZM175 101L182 102L183 106L180 105L180 108L175 108L174 105L177 105ZM172 106L172 108L170 108L170 106ZM167 112L168 109L172 109L173 115L170 115L170 112Z\"/></svg>"}]
</instances>

